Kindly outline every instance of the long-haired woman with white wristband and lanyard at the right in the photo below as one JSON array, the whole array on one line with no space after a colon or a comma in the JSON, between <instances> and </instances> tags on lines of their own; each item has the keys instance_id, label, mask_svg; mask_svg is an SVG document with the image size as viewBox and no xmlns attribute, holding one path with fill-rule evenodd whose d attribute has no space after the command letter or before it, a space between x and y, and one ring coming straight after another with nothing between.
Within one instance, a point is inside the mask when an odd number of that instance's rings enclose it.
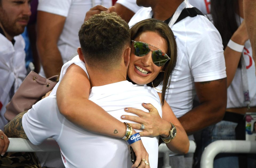
<instances>
[{"instance_id":1,"label":"long-haired woman with white wristband and lanyard at the right","mask_svg":"<svg viewBox=\"0 0 256 168\"><path fill-rule=\"evenodd\" d=\"M211 0L211 15L225 48L227 109L221 122L202 131L202 149L216 140L245 140L245 114L256 112L255 62L243 20L243 0ZM217 155L214 167L246 167L246 159L238 156Z\"/></svg>"}]
</instances>

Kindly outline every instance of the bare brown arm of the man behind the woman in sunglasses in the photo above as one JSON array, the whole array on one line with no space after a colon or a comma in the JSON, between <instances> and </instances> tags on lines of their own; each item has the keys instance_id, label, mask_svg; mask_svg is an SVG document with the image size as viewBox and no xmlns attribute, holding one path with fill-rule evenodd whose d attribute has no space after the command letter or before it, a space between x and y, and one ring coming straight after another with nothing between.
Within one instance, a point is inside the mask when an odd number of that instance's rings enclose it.
<instances>
[{"instance_id":1,"label":"bare brown arm of the man behind the woman in sunglasses","mask_svg":"<svg viewBox=\"0 0 256 168\"><path fill-rule=\"evenodd\" d=\"M227 79L195 82L200 105L178 118L187 134L222 120L227 104Z\"/></svg>"}]
</instances>

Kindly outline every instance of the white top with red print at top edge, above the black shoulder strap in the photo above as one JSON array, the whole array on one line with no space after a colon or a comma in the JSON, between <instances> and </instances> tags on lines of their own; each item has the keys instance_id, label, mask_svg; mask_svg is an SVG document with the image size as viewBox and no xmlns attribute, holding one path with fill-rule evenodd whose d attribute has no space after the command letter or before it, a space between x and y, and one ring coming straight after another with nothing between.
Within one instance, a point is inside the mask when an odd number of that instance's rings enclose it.
<instances>
[{"instance_id":1,"label":"white top with red print at top edge, above the black shoulder strap","mask_svg":"<svg viewBox=\"0 0 256 168\"><path fill-rule=\"evenodd\" d=\"M189 0L189 3L199 9L204 15L211 12L211 0Z\"/></svg>"}]
</instances>

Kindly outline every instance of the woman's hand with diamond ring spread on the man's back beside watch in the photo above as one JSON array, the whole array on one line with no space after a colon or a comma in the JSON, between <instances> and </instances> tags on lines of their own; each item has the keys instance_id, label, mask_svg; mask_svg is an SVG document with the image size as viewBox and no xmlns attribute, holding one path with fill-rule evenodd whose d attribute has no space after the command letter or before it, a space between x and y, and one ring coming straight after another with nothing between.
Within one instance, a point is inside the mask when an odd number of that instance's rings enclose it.
<instances>
[{"instance_id":1,"label":"woman's hand with diamond ring spread on the man's back beside watch","mask_svg":"<svg viewBox=\"0 0 256 168\"><path fill-rule=\"evenodd\" d=\"M167 137L170 132L171 124L161 118L157 109L152 104L143 103L142 106L148 109L149 112L135 108L125 108L126 112L136 114L137 116L122 115L121 118L123 120L137 122L138 124L131 124L134 129L141 129L143 124L145 129L142 129L143 132L140 132L140 135L143 137L155 137L159 135Z\"/></svg>"}]
</instances>

